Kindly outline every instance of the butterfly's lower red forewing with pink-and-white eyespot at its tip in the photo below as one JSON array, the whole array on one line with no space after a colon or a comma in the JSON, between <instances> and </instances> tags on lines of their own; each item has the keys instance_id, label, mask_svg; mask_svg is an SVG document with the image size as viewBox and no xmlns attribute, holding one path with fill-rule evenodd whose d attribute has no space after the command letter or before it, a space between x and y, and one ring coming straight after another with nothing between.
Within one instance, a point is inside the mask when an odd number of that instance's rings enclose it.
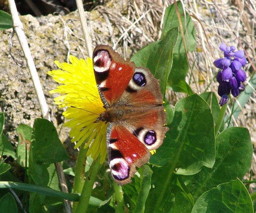
<instances>
[{"instance_id":1,"label":"butterfly's lower red forewing with pink-and-white eyespot at its tip","mask_svg":"<svg viewBox=\"0 0 256 213\"><path fill-rule=\"evenodd\" d=\"M141 167L150 158L150 152L135 135L113 123L108 125L107 147L111 174L120 185L131 182L135 166Z\"/></svg>"}]
</instances>

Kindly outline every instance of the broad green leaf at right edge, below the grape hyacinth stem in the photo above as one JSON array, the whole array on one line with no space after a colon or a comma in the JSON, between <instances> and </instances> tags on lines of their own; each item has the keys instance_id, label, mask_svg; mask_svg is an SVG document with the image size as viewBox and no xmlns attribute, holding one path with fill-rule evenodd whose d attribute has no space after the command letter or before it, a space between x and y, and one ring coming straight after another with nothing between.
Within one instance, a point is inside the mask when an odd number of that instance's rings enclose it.
<instances>
[{"instance_id":1,"label":"broad green leaf at right edge, below the grape hyacinth stem","mask_svg":"<svg viewBox=\"0 0 256 213\"><path fill-rule=\"evenodd\" d=\"M216 139L216 159L212 168L204 167L200 173L184 176L189 191L195 198L218 184L242 179L249 171L252 143L249 132L242 127L230 127Z\"/></svg>"}]
</instances>

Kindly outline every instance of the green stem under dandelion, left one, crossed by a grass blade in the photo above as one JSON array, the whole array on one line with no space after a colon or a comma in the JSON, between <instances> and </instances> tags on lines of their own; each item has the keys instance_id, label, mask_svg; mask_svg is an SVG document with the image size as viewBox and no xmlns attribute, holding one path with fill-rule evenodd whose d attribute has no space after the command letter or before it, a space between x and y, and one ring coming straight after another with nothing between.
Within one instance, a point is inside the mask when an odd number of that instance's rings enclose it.
<instances>
[{"instance_id":1,"label":"green stem under dandelion, left one, crossed by a grass blade","mask_svg":"<svg viewBox=\"0 0 256 213\"><path fill-rule=\"evenodd\" d=\"M78 152L77 160L76 160L76 168L75 168L75 178L74 178L74 193L82 193L84 186L84 169L86 165L86 153L89 148L84 149L84 143L80 146L80 150ZM78 202L74 202L73 204L73 212L76 211Z\"/></svg>"}]
</instances>

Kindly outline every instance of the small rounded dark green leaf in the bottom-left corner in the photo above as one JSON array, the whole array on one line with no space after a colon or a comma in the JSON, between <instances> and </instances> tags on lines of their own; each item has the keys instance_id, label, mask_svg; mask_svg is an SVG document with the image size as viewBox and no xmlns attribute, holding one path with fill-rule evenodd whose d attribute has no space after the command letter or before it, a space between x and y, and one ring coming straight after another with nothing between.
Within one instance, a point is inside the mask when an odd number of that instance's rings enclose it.
<instances>
[{"instance_id":1,"label":"small rounded dark green leaf in the bottom-left corner","mask_svg":"<svg viewBox=\"0 0 256 213\"><path fill-rule=\"evenodd\" d=\"M1 212L18 213L18 207L14 197L10 193L5 194L0 200Z\"/></svg>"}]
</instances>

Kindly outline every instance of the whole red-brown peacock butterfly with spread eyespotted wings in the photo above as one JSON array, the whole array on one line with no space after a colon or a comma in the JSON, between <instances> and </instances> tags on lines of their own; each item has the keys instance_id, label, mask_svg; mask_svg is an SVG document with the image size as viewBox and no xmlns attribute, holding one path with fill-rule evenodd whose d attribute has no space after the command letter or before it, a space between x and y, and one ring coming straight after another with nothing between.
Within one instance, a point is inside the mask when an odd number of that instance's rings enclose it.
<instances>
[{"instance_id":1,"label":"whole red-brown peacock butterfly with spread eyespotted wings","mask_svg":"<svg viewBox=\"0 0 256 213\"><path fill-rule=\"evenodd\" d=\"M158 80L150 70L135 67L108 45L93 51L93 68L105 112L97 121L106 131L109 168L114 180L131 182L136 167L147 163L149 150L163 143L168 127Z\"/></svg>"}]
</instances>

